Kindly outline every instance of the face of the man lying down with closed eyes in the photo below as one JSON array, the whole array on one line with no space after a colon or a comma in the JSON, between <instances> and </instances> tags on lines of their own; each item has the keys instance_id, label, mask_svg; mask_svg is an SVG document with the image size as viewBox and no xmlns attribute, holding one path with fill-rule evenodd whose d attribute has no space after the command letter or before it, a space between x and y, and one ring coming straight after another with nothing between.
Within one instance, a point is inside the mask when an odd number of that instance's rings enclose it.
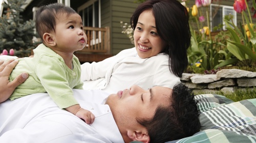
<instances>
[{"instance_id":1,"label":"face of the man lying down with closed eyes","mask_svg":"<svg viewBox=\"0 0 256 143\"><path fill-rule=\"evenodd\" d=\"M130 89L117 92L109 96L106 104L110 106L119 131L125 133L127 129L142 127L138 119L152 119L158 106L167 106L172 89L153 87L143 90L137 85Z\"/></svg>"}]
</instances>

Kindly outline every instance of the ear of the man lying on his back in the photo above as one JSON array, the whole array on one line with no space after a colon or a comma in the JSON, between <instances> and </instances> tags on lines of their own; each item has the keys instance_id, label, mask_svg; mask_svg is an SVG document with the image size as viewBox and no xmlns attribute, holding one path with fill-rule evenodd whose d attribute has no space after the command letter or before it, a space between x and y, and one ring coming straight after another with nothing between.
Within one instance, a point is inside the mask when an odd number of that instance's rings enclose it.
<instances>
[{"instance_id":1,"label":"ear of the man lying on his back","mask_svg":"<svg viewBox=\"0 0 256 143\"><path fill-rule=\"evenodd\" d=\"M150 142L150 136L147 134L146 130L143 130L143 131L128 130L127 135L132 140L141 141L145 143Z\"/></svg>"}]
</instances>

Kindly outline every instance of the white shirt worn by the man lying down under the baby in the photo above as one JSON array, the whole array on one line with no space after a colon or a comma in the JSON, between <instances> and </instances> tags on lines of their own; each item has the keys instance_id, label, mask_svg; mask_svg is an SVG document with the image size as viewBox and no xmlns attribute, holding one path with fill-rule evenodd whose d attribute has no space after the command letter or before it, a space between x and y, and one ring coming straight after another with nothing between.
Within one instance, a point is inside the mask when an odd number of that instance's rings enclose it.
<instances>
[{"instance_id":1,"label":"white shirt worn by the man lying down under the baby","mask_svg":"<svg viewBox=\"0 0 256 143\"><path fill-rule=\"evenodd\" d=\"M38 93L0 104L0 142L124 142L104 104L109 94L73 91L80 106L95 115L93 124L60 109L47 93Z\"/></svg>"}]
</instances>

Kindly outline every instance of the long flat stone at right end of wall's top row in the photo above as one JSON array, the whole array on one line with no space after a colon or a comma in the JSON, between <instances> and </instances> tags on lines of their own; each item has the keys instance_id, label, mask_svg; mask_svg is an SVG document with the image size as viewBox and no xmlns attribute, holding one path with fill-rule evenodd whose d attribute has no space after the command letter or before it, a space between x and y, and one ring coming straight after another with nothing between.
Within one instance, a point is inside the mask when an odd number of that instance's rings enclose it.
<instances>
[{"instance_id":1,"label":"long flat stone at right end of wall's top row","mask_svg":"<svg viewBox=\"0 0 256 143\"><path fill-rule=\"evenodd\" d=\"M256 77L256 72L244 71L239 69L223 69L216 73L218 78L241 78Z\"/></svg>"}]
</instances>

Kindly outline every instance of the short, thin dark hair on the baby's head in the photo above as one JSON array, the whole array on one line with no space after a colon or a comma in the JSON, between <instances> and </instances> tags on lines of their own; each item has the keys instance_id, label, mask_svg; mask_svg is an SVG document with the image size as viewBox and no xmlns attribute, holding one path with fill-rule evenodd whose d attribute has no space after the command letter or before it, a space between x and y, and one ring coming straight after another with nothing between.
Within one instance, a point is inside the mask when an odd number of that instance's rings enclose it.
<instances>
[{"instance_id":1,"label":"short, thin dark hair on the baby's head","mask_svg":"<svg viewBox=\"0 0 256 143\"><path fill-rule=\"evenodd\" d=\"M55 32L56 18L60 16L59 14L65 14L65 16L68 17L75 13L77 12L72 8L60 3L41 6L35 14L35 28L37 34L40 36L41 40L44 41L42 38L44 33Z\"/></svg>"}]
</instances>

